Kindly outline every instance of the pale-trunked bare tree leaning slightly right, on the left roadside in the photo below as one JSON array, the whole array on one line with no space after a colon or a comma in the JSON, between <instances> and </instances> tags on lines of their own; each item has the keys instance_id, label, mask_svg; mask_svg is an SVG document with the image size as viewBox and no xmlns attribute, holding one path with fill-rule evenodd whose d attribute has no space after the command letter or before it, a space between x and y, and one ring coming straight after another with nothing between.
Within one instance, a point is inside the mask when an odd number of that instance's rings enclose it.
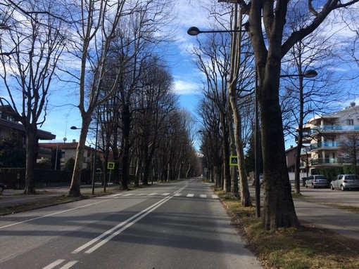
<instances>
[{"instance_id":1,"label":"pale-trunked bare tree leaning slightly right, on the left roadside","mask_svg":"<svg viewBox=\"0 0 359 269\"><path fill-rule=\"evenodd\" d=\"M106 67L108 67L108 60L110 59L108 56L113 49L111 46L112 41L118 34L116 30L120 24L120 19L125 15L132 14L138 5L138 2L134 3L133 6L126 5L125 0L117 1L115 4L108 0L90 0L87 2L82 1L80 5L74 3L70 6L75 12L70 11L69 8L69 15L72 15L77 33L77 39L73 40L75 48L73 55L80 61L80 74L77 76L77 74L70 71L69 74L75 80L78 79L79 104L77 107L82 118L75 168L69 190L70 196L78 197L81 195L82 157L89 124L92 121L92 114L115 91L125 63L132 58L132 55L127 55L127 58L123 59L122 63L119 63L115 79L113 79L111 85L108 85L109 91L107 95L101 96L103 78L109 72ZM82 16L80 20L78 20L78 14ZM120 46L126 46L126 44L121 44ZM87 88L86 82L89 83L89 88Z\"/></svg>"}]
</instances>

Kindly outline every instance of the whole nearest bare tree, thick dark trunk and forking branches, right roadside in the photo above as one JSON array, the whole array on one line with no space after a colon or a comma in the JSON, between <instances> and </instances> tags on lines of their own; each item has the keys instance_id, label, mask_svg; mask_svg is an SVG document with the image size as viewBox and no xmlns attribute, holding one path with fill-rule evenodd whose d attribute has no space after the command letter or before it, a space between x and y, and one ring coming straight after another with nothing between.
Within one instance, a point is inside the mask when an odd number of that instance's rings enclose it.
<instances>
[{"instance_id":1,"label":"whole nearest bare tree, thick dark trunk and forking branches, right roadside","mask_svg":"<svg viewBox=\"0 0 359 269\"><path fill-rule=\"evenodd\" d=\"M306 13L310 17L306 25L285 39L283 34L290 1L238 1L243 13L248 15L245 27L251 37L258 71L263 171L266 178L262 220L267 230L300 225L291 197L279 105L282 58L296 42L317 29L332 11L351 6L357 1L326 1L318 8L309 1Z\"/></svg>"}]
</instances>

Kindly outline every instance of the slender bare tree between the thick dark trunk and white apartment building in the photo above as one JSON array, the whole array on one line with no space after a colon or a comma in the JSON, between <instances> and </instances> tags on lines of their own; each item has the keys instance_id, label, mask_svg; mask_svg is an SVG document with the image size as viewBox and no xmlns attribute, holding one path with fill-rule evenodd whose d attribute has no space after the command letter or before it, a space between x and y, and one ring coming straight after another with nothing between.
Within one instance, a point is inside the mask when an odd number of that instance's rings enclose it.
<instances>
[{"instance_id":1,"label":"slender bare tree between the thick dark trunk and white apartment building","mask_svg":"<svg viewBox=\"0 0 359 269\"><path fill-rule=\"evenodd\" d=\"M305 19L301 17L301 19ZM296 27L300 22L296 20ZM304 21L301 23L305 24ZM330 103L344 100L346 89L338 85L339 78L334 77L331 70L333 58L336 57L335 48L338 47L332 34L325 37L322 29L298 41L284 58L283 72L284 98L282 109L284 117L284 131L296 136L296 164L295 164L295 192L300 193L300 163L303 146L303 124L308 117L329 110ZM338 59L338 58L337 58ZM339 60L339 59L338 59ZM315 66L319 72L317 77L306 78L306 72ZM341 88L341 91L338 91ZM293 126L298 126L297 129ZM285 135L286 135L285 133Z\"/></svg>"}]
</instances>

